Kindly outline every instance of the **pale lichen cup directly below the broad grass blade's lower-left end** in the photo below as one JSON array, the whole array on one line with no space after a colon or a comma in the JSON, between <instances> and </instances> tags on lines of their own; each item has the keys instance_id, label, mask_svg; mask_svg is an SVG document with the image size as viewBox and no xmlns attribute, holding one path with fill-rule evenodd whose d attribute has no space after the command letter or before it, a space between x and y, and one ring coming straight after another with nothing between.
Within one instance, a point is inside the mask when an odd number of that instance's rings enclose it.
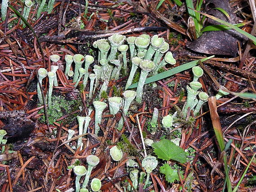
<instances>
[{"instance_id":1,"label":"pale lichen cup directly below the broad grass blade's lower-left end","mask_svg":"<svg viewBox=\"0 0 256 192\"><path fill-rule=\"evenodd\" d=\"M123 114L126 115L128 113L128 109L136 97L136 92L132 90L127 90L123 93ZM118 122L117 129L120 131L124 126L124 117L120 119Z\"/></svg>"}]
</instances>

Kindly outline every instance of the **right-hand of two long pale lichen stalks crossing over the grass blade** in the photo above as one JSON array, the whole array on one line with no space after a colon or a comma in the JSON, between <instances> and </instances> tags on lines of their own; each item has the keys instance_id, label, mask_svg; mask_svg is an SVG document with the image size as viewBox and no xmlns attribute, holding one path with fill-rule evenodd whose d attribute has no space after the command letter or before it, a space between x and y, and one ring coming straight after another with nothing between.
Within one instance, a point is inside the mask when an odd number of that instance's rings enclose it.
<instances>
[{"instance_id":1,"label":"right-hand of two long pale lichen stalks crossing over the grass blade","mask_svg":"<svg viewBox=\"0 0 256 192\"><path fill-rule=\"evenodd\" d=\"M138 103L141 103L142 101L142 94L143 94L143 87L147 78L147 75L151 70L154 70L155 65L153 61L150 60L142 60L140 62L140 68L141 68L141 76L138 82L138 87L137 87L137 96L136 96L136 101Z\"/></svg>"}]
</instances>

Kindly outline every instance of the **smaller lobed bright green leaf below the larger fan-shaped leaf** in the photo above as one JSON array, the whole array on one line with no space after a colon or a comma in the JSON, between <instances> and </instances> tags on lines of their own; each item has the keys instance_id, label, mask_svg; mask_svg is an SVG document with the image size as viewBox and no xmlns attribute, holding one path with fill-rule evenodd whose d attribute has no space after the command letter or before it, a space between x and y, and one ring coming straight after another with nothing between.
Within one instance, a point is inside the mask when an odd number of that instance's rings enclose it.
<instances>
[{"instance_id":1,"label":"smaller lobed bright green leaf below the larger fan-shaped leaf","mask_svg":"<svg viewBox=\"0 0 256 192\"><path fill-rule=\"evenodd\" d=\"M165 175L165 180L169 183L173 183L174 181L179 181L179 175L178 175L178 171L174 170L171 168L171 166L169 166L167 163L165 163L163 166L160 167L160 173L163 173ZM181 174L181 178L183 179L184 176L183 171L180 171Z\"/></svg>"}]
</instances>

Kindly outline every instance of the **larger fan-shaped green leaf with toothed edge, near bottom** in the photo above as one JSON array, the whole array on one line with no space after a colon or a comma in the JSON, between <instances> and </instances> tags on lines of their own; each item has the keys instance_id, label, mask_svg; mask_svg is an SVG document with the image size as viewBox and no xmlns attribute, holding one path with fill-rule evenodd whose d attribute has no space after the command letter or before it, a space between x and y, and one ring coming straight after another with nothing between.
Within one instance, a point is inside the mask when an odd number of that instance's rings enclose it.
<instances>
[{"instance_id":1,"label":"larger fan-shaped green leaf with toothed edge, near bottom","mask_svg":"<svg viewBox=\"0 0 256 192\"><path fill-rule=\"evenodd\" d=\"M179 161L185 163L187 160L187 155L185 151L174 144L171 140L160 140L152 144L154 148L154 153L159 159L169 161L170 159L174 161Z\"/></svg>"}]
</instances>

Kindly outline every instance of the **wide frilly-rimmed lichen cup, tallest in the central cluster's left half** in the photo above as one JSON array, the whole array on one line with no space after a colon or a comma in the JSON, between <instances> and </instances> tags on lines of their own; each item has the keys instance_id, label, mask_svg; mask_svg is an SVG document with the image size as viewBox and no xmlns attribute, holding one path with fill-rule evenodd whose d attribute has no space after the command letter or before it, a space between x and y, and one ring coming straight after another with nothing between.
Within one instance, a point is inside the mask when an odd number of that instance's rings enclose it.
<instances>
[{"instance_id":1,"label":"wide frilly-rimmed lichen cup, tallest in the central cluster's left half","mask_svg":"<svg viewBox=\"0 0 256 192\"><path fill-rule=\"evenodd\" d=\"M108 61L115 59L115 54L117 52L117 48L119 45L124 43L125 40L124 35L120 35L118 33L115 33L114 35L111 35L108 40L110 41L111 49L110 49L110 54L107 58Z\"/></svg>"}]
</instances>

